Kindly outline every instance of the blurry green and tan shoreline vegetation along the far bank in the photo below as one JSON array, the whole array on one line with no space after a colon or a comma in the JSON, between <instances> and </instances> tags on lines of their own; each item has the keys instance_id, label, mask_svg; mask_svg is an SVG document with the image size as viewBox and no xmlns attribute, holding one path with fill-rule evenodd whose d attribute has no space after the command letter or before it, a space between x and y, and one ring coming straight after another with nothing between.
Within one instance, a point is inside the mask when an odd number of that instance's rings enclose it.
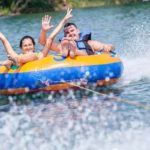
<instances>
[{"instance_id":1,"label":"blurry green and tan shoreline vegetation along the far bank","mask_svg":"<svg viewBox=\"0 0 150 150\"><path fill-rule=\"evenodd\" d=\"M143 0L0 0L0 14L31 13L64 9L66 3L72 7L92 7L112 4L130 4Z\"/></svg>"}]
</instances>

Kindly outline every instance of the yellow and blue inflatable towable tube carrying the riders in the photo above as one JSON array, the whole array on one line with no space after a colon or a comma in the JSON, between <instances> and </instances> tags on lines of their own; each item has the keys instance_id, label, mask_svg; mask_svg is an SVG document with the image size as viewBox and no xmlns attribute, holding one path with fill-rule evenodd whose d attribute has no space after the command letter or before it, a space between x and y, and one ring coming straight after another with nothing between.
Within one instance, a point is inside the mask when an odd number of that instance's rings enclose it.
<instances>
[{"instance_id":1,"label":"yellow and blue inflatable towable tube carrying the riders","mask_svg":"<svg viewBox=\"0 0 150 150\"><path fill-rule=\"evenodd\" d=\"M106 85L116 82L123 65L117 56L100 54L77 56L61 55L29 62L19 68L0 67L0 94L22 94L37 91L57 91L73 87L72 82Z\"/></svg>"}]
</instances>

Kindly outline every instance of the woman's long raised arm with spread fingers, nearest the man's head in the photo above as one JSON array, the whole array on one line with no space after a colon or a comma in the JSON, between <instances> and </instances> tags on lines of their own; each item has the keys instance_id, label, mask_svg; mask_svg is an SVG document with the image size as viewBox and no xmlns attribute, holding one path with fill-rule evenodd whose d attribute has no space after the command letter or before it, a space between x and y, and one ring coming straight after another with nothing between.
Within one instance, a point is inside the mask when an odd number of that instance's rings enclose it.
<instances>
[{"instance_id":1,"label":"woman's long raised arm with spread fingers, nearest the man's head","mask_svg":"<svg viewBox=\"0 0 150 150\"><path fill-rule=\"evenodd\" d=\"M42 51L43 57L47 56L50 47L53 45L54 38L60 32L64 24L72 17L71 12L72 12L72 9L68 8L67 14L65 15L65 17L60 21L60 23L57 25L54 31L49 35L48 39L46 40L45 47Z\"/></svg>"}]
</instances>

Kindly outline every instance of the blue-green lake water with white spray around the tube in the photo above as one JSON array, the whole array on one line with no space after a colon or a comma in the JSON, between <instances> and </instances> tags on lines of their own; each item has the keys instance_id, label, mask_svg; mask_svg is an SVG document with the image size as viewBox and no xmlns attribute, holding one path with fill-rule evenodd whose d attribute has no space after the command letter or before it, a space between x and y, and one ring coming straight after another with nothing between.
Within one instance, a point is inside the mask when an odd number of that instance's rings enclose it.
<instances>
[{"instance_id":1,"label":"blue-green lake water with white spray around the tube","mask_svg":"<svg viewBox=\"0 0 150 150\"><path fill-rule=\"evenodd\" d=\"M115 45L124 64L122 78L94 92L0 96L0 149L149 150L149 8L147 3L74 10L72 21L81 30L90 29L93 39ZM64 12L48 14L56 25ZM1 17L0 31L19 52L23 35L38 41L43 15ZM2 44L0 49L4 60Z\"/></svg>"}]
</instances>

